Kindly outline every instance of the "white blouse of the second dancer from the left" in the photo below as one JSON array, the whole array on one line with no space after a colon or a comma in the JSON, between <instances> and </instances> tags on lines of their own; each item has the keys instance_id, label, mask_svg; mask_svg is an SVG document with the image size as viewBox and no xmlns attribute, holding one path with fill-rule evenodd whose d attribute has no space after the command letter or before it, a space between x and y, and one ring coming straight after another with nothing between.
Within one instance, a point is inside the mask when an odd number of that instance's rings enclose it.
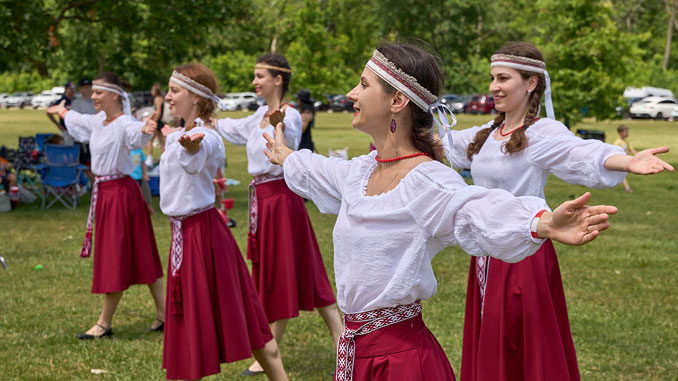
<instances>
[{"instance_id":1,"label":"white blouse of the second dancer from the left","mask_svg":"<svg viewBox=\"0 0 678 381\"><path fill-rule=\"evenodd\" d=\"M190 154L179 144L183 134L205 134L201 147ZM168 216L183 216L214 204L212 179L226 159L224 142L216 131L205 127L184 129L167 136L160 157L160 209Z\"/></svg>"}]
</instances>

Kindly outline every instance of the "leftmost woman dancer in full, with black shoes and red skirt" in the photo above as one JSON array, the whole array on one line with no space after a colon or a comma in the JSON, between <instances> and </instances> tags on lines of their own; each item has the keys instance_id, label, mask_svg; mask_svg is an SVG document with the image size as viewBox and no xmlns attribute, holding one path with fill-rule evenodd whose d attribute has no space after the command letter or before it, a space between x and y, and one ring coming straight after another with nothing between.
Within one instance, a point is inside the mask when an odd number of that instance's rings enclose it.
<instances>
[{"instance_id":1,"label":"leftmost woman dancer in full, with black shoes and red skirt","mask_svg":"<svg viewBox=\"0 0 678 381\"><path fill-rule=\"evenodd\" d=\"M130 115L123 84L114 73L104 72L94 80L92 100L95 115L69 111L65 102L47 109L64 119L68 133L77 141L89 141L92 172L92 204L80 256L88 257L92 244L92 218L96 222L92 293L106 294L96 324L78 334L81 340L113 334L111 322L122 292L133 284L148 284L156 317L151 330L161 331L165 315L162 265L146 202L136 181L130 151L153 137L155 122L146 124Z\"/></svg>"}]
</instances>

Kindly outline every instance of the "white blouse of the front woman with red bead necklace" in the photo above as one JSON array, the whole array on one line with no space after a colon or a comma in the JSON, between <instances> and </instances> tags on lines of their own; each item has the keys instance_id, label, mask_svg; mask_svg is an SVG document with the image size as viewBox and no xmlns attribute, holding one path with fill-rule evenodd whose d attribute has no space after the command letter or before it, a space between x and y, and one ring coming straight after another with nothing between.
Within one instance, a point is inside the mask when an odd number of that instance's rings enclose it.
<instances>
[{"instance_id":1,"label":"white blouse of the front woman with red bead necklace","mask_svg":"<svg viewBox=\"0 0 678 381\"><path fill-rule=\"evenodd\" d=\"M345 313L428 299L436 292L431 261L446 246L516 262L543 243L530 234L537 197L468 186L451 168L424 162L391 191L366 196L376 152L350 161L301 150L284 163L290 189L337 214L334 272Z\"/></svg>"}]
</instances>

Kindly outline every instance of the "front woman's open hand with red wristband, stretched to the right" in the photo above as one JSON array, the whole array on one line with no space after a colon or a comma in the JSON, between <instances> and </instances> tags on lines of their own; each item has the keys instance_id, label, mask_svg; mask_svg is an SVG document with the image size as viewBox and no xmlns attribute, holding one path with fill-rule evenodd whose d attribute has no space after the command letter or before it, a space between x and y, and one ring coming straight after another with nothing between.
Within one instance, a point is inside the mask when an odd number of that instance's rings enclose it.
<instances>
[{"instance_id":1,"label":"front woman's open hand with red wristband, stretched to the right","mask_svg":"<svg viewBox=\"0 0 678 381\"><path fill-rule=\"evenodd\" d=\"M607 220L610 214L617 213L617 208L588 206L589 200L591 193L586 192L575 200L560 204L553 213L544 213L537 226L537 235L573 246L593 241L610 227Z\"/></svg>"}]
</instances>

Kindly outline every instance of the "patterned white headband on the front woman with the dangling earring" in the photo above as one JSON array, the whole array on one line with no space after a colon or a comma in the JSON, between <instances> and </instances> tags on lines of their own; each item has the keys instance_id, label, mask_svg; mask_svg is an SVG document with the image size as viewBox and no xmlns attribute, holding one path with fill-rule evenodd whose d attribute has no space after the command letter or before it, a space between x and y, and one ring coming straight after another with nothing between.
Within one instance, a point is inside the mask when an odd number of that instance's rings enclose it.
<instances>
[{"instance_id":1,"label":"patterned white headband on the front woman with the dangling earring","mask_svg":"<svg viewBox=\"0 0 678 381\"><path fill-rule=\"evenodd\" d=\"M378 50L372 53L372 58L367 61L365 66L386 83L405 94L424 111L428 111L429 105L435 103L438 99L424 86L420 85L416 78L400 70Z\"/></svg>"}]
</instances>

